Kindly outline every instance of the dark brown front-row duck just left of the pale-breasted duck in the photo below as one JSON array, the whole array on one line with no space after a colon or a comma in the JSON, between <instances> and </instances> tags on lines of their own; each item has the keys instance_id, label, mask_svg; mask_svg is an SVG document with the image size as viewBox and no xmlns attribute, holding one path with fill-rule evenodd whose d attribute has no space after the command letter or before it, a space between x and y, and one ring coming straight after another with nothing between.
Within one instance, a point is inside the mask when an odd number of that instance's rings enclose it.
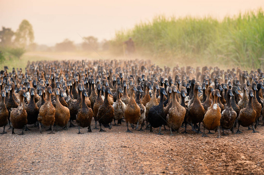
<instances>
[{"instance_id":1,"label":"dark brown front-row duck just left of the pale-breasted duck","mask_svg":"<svg viewBox=\"0 0 264 175\"><path fill-rule=\"evenodd\" d=\"M110 87L106 87L104 93L105 93L105 98L103 101L103 105L99 107L96 116L96 119L100 125L99 132L105 132L105 130L102 129L102 124L107 125L110 123L109 129L111 129L112 121L114 119L114 107L110 104L108 99L108 94L112 94L112 92L110 91Z\"/></svg>"}]
</instances>

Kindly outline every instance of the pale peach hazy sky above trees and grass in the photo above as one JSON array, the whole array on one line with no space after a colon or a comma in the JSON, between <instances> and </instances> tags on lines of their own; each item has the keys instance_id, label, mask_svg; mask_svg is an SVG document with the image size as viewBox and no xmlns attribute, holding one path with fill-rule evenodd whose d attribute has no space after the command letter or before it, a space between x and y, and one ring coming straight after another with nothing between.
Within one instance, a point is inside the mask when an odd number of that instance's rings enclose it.
<instances>
[{"instance_id":1,"label":"pale peach hazy sky above trees and grass","mask_svg":"<svg viewBox=\"0 0 264 175\"><path fill-rule=\"evenodd\" d=\"M0 24L17 30L23 19L33 25L35 42L53 45L65 38L81 43L81 36L111 39L115 31L129 29L154 16L222 19L239 11L264 8L264 0L0 0Z\"/></svg>"}]
</instances>

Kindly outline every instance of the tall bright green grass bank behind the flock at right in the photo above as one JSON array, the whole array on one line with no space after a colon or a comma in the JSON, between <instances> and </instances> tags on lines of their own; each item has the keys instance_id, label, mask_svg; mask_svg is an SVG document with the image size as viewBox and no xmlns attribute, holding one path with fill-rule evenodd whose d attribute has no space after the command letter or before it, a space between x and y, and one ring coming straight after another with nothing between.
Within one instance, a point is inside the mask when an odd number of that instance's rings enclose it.
<instances>
[{"instance_id":1,"label":"tall bright green grass bank behind the flock at right","mask_svg":"<svg viewBox=\"0 0 264 175\"><path fill-rule=\"evenodd\" d=\"M137 52L157 60L169 50L165 61L264 68L262 9L227 16L221 21L212 17L158 16L151 22L116 32L111 41L115 54L122 53L122 42L129 37L134 40Z\"/></svg>"}]
</instances>

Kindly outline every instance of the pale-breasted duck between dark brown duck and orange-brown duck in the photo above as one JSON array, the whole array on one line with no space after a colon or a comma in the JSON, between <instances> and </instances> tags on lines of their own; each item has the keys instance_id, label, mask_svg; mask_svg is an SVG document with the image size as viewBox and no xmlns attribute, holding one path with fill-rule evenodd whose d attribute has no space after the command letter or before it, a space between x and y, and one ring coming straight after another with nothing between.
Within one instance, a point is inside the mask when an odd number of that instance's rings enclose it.
<instances>
[{"instance_id":1,"label":"pale-breasted duck between dark brown duck and orange-brown duck","mask_svg":"<svg viewBox=\"0 0 264 175\"><path fill-rule=\"evenodd\" d=\"M126 108L126 104L124 102L122 102L122 100L120 99L120 93L123 93L122 91L122 87L118 86L116 89L116 101L113 104L114 107L114 123L116 120L121 120L122 117L124 116L124 110ZM118 126L116 123L114 126Z\"/></svg>"}]
</instances>

